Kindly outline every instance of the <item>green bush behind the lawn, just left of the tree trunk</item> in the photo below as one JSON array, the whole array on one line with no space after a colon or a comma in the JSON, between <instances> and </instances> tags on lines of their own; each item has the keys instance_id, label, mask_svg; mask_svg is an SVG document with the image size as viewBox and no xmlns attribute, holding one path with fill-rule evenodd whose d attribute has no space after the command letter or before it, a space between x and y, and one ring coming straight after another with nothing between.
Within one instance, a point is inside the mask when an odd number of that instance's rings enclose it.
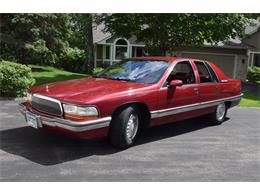
<instances>
[{"instance_id":1,"label":"green bush behind the lawn, just left of the tree trunk","mask_svg":"<svg viewBox=\"0 0 260 195\"><path fill-rule=\"evenodd\" d=\"M62 68L71 72L84 72L85 51L78 48L66 48L60 55L59 64Z\"/></svg>"}]
</instances>

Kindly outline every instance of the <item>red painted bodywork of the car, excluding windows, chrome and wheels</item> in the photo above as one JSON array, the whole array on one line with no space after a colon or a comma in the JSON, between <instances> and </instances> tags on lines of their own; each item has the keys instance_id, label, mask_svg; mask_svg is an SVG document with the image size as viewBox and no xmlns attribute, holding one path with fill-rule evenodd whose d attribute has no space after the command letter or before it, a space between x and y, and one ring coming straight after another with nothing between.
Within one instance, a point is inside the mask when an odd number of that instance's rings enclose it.
<instances>
[{"instance_id":1,"label":"red painted bodywork of the car, excluding windows, chrome and wheels","mask_svg":"<svg viewBox=\"0 0 260 195\"><path fill-rule=\"evenodd\" d=\"M229 79L211 62L208 63L215 71L218 79L220 81L225 80L225 82L200 84L198 71L193 63L193 59L170 57L141 57L134 59L165 60L172 63L156 84L142 84L107 80L103 78L83 78L48 84L48 90L46 90L46 85L33 87L29 92L49 96L60 100L62 103L96 106L99 110L100 118L113 116L116 109L129 103L141 103L145 105L150 112L153 112L156 110L175 108L241 94L241 82L239 80ZM191 62L196 77L196 83L192 85L183 85L176 87L175 89L169 89L167 87L162 88L173 67L180 61ZM198 93L196 93L195 88L199 89ZM239 101L232 104L232 106L238 103ZM29 104L26 104L26 107L29 111L37 115L48 116L33 110ZM214 109L215 107L203 108L174 114L172 116L152 118L150 126L204 115L213 112ZM54 129L52 127L47 127L47 129L83 139L105 137L109 131L109 127L80 133L68 132L63 129Z\"/></svg>"}]
</instances>

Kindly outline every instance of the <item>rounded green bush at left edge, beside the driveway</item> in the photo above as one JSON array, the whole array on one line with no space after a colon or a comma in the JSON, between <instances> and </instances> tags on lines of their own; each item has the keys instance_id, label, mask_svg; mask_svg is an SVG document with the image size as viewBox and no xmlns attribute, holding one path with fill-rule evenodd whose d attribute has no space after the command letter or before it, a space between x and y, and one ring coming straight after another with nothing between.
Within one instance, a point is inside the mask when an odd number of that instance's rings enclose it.
<instances>
[{"instance_id":1,"label":"rounded green bush at left edge, beside the driveway","mask_svg":"<svg viewBox=\"0 0 260 195\"><path fill-rule=\"evenodd\" d=\"M22 97L35 80L30 67L9 61L0 62L0 95Z\"/></svg>"}]
</instances>

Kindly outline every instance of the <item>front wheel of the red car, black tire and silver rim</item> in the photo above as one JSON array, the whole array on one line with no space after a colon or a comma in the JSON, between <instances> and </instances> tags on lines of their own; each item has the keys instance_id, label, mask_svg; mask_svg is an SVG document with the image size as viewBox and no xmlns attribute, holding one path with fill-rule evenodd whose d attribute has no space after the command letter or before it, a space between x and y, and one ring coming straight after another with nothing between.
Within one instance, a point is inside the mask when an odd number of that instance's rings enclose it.
<instances>
[{"instance_id":1,"label":"front wheel of the red car, black tire and silver rim","mask_svg":"<svg viewBox=\"0 0 260 195\"><path fill-rule=\"evenodd\" d=\"M116 112L110 125L110 143L122 149L131 147L140 130L140 119L136 106L128 106Z\"/></svg>"}]
</instances>

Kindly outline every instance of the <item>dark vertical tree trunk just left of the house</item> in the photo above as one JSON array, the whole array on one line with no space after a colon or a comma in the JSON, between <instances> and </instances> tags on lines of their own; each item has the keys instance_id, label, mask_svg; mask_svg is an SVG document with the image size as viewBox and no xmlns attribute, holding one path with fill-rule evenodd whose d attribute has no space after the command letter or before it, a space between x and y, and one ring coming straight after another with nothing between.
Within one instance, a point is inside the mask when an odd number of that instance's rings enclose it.
<instances>
[{"instance_id":1,"label":"dark vertical tree trunk just left of the house","mask_svg":"<svg viewBox=\"0 0 260 195\"><path fill-rule=\"evenodd\" d=\"M92 15L89 14L86 29L86 54L87 60L85 62L86 72L92 74L94 69L94 43L93 43L93 31L92 31Z\"/></svg>"}]
</instances>

